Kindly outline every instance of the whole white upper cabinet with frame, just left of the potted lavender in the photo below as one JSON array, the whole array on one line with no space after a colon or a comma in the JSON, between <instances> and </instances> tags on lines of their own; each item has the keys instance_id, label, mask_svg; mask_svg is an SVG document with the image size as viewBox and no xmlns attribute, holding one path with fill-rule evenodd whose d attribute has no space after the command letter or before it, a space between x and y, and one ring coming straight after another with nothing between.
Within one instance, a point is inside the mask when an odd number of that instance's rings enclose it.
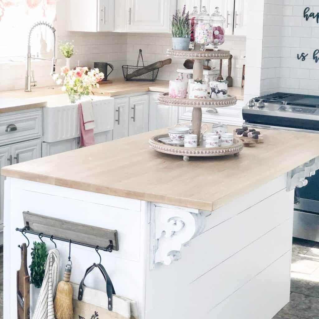
<instances>
[{"instance_id":1,"label":"whole white upper cabinet with frame, just left of the potted lavender","mask_svg":"<svg viewBox=\"0 0 319 319\"><path fill-rule=\"evenodd\" d=\"M177 0L116 0L117 32L170 32L170 19Z\"/></svg>"}]
</instances>

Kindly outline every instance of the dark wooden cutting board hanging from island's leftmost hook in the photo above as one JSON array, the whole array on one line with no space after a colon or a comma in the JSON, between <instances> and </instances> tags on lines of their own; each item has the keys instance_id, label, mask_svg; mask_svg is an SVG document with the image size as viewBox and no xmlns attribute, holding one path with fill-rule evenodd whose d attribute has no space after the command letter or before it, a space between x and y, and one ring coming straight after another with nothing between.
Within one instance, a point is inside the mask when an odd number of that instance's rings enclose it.
<instances>
[{"instance_id":1,"label":"dark wooden cutting board hanging from island's leftmost hook","mask_svg":"<svg viewBox=\"0 0 319 319\"><path fill-rule=\"evenodd\" d=\"M27 266L26 243L21 245L21 266L17 271L18 319L30 319L30 276Z\"/></svg>"}]
</instances>

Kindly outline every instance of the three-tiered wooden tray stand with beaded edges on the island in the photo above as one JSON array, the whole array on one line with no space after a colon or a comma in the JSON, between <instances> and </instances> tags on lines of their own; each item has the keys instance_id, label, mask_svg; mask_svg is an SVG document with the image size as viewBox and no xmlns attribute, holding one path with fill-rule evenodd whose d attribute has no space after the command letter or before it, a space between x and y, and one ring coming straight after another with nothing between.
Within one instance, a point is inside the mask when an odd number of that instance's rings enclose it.
<instances>
[{"instance_id":1,"label":"three-tiered wooden tray stand with beaded edges on the island","mask_svg":"<svg viewBox=\"0 0 319 319\"><path fill-rule=\"evenodd\" d=\"M167 50L167 55L175 58L181 59L193 59L193 78L203 78L203 60L220 60L220 59L229 59L230 52L227 50L216 50L216 51L180 51L180 50ZM183 155L185 161L189 160L189 156L221 156L229 154L237 154L242 148L242 142L234 138L234 145L228 147L219 147L219 148L203 148L200 146L200 134L202 126L202 108L222 108L227 106L235 105L237 99L235 96L227 95L224 99L178 99L171 98L168 96L168 93L160 94L158 101L177 107L192 107L192 129L193 133L197 135L197 148L184 148L181 146L171 146L165 145L158 141L158 138L164 137L163 135L154 136L150 139L149 145L155 151ZM159 147L162 146L162 147ZM165 146L165 147L164 147ZM225 150L225 152L223 151ZM192 152L190 152L192 151ZM218 151L218 153L216 152ZM187 153L188 152L188 153Z\"/></svg>"}]
</instances>

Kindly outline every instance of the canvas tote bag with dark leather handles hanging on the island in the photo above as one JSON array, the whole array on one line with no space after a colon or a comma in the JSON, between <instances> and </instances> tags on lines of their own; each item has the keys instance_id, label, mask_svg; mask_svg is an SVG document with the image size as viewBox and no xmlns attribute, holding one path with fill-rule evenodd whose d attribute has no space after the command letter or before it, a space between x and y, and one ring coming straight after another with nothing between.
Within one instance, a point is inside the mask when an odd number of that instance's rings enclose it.
<instances>
[{"instance_id":1,"label":"canvas tote bag with dark leather handles hanging on the island","mask_svg":"<svg viewBox=\"0 0 319 319\"><path fill-rule=\"evenodd\" d=\"M95 268L98 268L104 277L106 292L88 288L84 284L85 277ZM138 319L136 302L115 295L112 281L100 263L85 271L79 285L71 285L74 319Z\"/></svg>"}]
</instances>

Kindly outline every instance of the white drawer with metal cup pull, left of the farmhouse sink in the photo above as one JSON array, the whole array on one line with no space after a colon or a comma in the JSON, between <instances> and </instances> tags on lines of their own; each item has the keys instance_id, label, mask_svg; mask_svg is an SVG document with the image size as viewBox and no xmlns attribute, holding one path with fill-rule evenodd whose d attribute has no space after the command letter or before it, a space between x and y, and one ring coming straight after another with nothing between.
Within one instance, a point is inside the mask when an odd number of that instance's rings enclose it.
<instances>
[{"instance_id":1,"label":"white drawer with metal cup pull, left of the farmhouse sink","mask_svg":"<svg viewBox=\"0 0 319 319\"><path fill-rule=\"evenodd\" d=\"M0 116L0 145L25 141L42 135L41 109L10 112ZM9 128L11 127L11 131Z\"/></svg>"}]
</instances>

